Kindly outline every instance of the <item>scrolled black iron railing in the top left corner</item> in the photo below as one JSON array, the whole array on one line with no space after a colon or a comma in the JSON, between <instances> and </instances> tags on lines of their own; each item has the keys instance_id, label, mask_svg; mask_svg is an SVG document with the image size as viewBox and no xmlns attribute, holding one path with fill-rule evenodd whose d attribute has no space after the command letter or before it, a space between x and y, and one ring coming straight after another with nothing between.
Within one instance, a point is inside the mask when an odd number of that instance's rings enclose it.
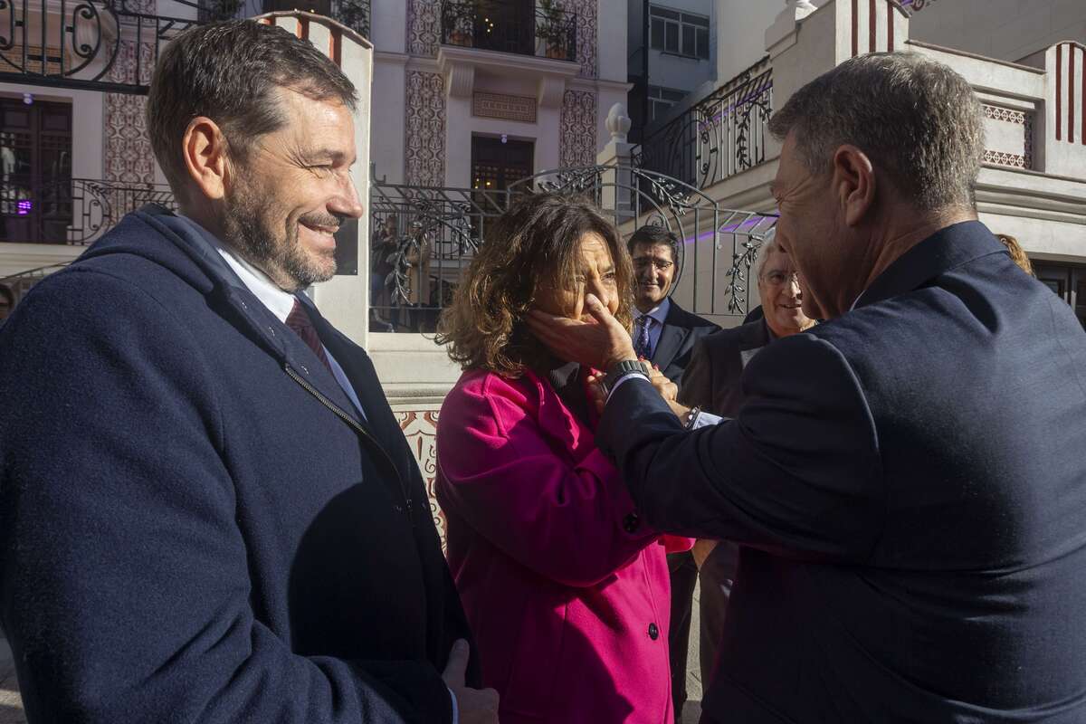
<instances>
[{"instance_id":1,"label":"scrolled black iron railing in the top left corner","mask_svg":"<svg viewBox=\"0 0 1086 724\"><path fill-rule=\"evenodd\" d=\"M141 0L0 0L0 81L144 94L164 42L241 7L174 2L187 17L146 12Z\"/></svg>"}]
</instances>

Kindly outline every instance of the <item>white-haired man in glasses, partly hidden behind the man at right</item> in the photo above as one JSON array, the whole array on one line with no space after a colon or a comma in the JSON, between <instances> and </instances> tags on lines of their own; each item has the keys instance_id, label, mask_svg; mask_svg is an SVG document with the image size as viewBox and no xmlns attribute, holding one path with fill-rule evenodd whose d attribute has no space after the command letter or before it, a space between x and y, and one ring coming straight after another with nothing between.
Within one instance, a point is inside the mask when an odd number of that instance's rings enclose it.
<instances>
[{"instance_id":1,"label":"white-haired man in glasses, partly hidden behind the man at right","mask_svg":"<svg viewBox=\"0 0 1086 724\"><path fill-rule=\"evenodd\" d=\"M758 296L766 314L731 329L703 338L695 346L690 366L679 385L678 399L733 418L743 406L740 378L754 356L773 340L798 334L815 326L801 308L803 292L795 265L781 251L775 238L758 250ZM738 566L738 546L730 541L702 539L692 551L700 582L698 611L700 632L698 658L702 683L708 687L717 662L717 646L724 632L728 599Z\"/></svg>"}]
</instances>

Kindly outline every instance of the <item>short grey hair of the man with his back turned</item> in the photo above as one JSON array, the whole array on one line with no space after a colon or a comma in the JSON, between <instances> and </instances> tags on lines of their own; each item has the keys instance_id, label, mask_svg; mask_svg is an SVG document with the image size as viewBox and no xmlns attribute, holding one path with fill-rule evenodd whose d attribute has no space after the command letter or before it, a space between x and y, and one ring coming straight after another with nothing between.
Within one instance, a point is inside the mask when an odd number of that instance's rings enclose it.
<instances>
[{"instance_id":1,"label":"short grey hair of the man with his back turned","mask_svg":"<svg viewBox=\"0 0 1086 724\"><path fill-rule=\"evenodd\" d=\"M769 122L816 174L849 143L923 211L975 208L984 154L981 104L952 69L915 53L845 61L797 90Z\"/></svg>"}]
</instances>

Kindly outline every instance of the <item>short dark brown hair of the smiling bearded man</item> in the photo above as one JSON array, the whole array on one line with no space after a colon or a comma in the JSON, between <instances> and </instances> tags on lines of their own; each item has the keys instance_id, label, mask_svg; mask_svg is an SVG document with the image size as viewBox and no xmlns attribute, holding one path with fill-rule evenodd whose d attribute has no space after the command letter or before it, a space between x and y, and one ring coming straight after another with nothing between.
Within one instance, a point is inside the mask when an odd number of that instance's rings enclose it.
<instances>
[{"instance_id":1,"label":"short dark brown hair of the smiling bearded man","mask_svg":"<svg viewBox=\"0 0 1086 724\"><path fill-rule=\"evenodd\" d=\"M290 88L314 99L336 98L352 111L354 84L308 40L254 21L190 28L159 56L147 99L151 148L174 194L184 198L181 140L206 116L223 129L229 152L244 162L253 141L287 123L275 92Z\"/></svg>"}]
</instances>

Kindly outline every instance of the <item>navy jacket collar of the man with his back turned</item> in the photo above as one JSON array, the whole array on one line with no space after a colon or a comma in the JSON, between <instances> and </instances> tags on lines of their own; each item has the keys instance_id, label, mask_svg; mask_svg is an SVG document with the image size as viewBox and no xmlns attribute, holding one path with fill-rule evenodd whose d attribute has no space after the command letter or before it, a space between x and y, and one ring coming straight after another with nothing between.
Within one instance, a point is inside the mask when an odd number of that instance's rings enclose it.
<instances>
[{"instance_id":1,"label":"navy jacket collar of the man with his back turned","mask_svg":"<svg viewBox=\"0 0 1086 724\"><path fill-rule=\"evenodd\" d=\"M923 287L950 269L988 254L1007 253L980 221L940 229L894 261L856 301L854 308L883 302Z\"/></svg>"}]
</instances>

